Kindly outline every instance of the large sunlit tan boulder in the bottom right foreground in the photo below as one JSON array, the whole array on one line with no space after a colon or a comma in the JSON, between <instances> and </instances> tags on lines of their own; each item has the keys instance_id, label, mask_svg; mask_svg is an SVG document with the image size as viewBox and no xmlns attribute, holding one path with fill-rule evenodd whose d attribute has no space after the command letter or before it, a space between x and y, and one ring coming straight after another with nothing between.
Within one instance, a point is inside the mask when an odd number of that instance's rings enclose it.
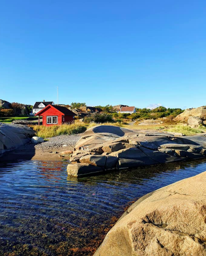
<instances>
[{"instance_id":1,"label":"large sunlit tan boulder in the bottom right foreground","mask_svg":"<svg viewBox=\"0 0 206 256\"><path fill-rule=\"evenodd\" d=\"M136 201L94 256L206 256L206 172Z\"/></svg>"}]
</instances>

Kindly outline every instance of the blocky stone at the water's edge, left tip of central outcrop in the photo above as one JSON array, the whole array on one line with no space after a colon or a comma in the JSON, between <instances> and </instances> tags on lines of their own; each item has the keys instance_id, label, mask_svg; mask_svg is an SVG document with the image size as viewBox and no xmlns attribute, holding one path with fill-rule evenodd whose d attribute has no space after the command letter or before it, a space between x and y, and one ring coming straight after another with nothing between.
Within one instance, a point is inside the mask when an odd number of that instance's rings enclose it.
<instances>
[{"instance_id":1,"label":"blocky stone at the water's edge, left tip of central outcrop","mask_svg":"<svg viewBox=\"0 0 206 256\"><path fill-rule=\"evenodd\" d=\"M81 177L101 172L103 172L101 167L90 165L88 163L74 163L68 164L67 166L67 174L74 177Z\"/></svg>"}]
</instances>

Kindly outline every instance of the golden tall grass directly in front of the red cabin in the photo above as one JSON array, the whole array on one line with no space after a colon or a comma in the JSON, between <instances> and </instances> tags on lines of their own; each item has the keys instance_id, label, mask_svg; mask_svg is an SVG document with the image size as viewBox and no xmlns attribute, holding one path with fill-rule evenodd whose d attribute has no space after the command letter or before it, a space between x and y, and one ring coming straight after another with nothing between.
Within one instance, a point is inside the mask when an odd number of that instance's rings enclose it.
<instances>
[{"instance_id":1,"label":"golden tall grass directly in front of the red cabin","mask_svg":"<svg viewBox=\"0 0 206 256\"><path fill-rule=\"evenodd\" d=\"M50 138L62 134L79 134L86 131L84 123L62 124L53 126L30 125L35 130L36 135L42 138Z\"/></svg>"}]
</instances>

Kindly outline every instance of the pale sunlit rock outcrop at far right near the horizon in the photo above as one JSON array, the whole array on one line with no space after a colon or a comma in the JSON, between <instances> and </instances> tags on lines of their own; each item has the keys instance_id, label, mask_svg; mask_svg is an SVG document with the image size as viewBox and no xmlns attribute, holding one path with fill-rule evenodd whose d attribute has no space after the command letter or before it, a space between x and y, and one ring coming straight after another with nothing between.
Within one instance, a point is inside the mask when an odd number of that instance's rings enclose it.
<instances>
[{"instance_id":1,"label":"pale sunlit rock outcrop at far right near the horizon","mask_svg":"<svg viewBox=\"0 0 206 256\"><path fill-rule=\"evenodd\" d=\"M206 106L199 108L188 108L173 120L177 122L187 122L189 117L199 117L202 120L206 120Z\"/></svg>"}]
</instances>

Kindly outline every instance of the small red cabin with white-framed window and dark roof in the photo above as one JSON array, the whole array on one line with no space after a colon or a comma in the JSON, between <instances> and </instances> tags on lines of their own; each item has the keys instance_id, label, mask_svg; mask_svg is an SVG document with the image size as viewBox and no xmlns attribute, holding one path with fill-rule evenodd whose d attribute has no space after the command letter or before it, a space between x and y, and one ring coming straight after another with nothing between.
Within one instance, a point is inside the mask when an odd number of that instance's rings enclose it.
<instances>
[{"instance_id":1,"label":"small red cabin with white-framed window and dark roof","mask_svg":"<svg viewBox=\"0 0 206 256\"><path fill-rule=\"evenodd\" d=\"M76 115L68 108L56 105L47 105L40 110L35 116L42 116L42 124L45 126L60 125L64 123L73 123Z\"/></svg>"}]
</instances>

